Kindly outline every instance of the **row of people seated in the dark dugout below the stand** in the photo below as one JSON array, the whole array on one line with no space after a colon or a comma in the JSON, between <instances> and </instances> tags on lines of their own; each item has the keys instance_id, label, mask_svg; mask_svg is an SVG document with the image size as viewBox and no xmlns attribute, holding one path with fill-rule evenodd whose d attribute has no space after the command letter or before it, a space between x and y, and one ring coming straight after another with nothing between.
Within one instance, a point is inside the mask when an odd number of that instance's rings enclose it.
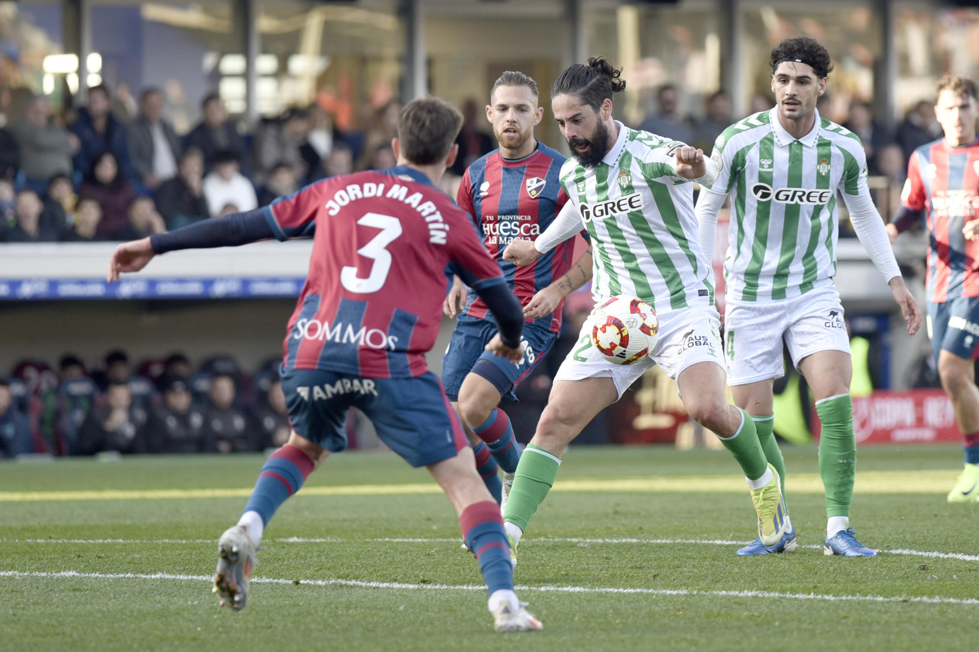
<instances>
[{"instance_id":1,"label":"row of people seated in the dark dugout below the stand","mask_svg":"<svg viewBox=\"0 0 979 652\"><path fill-rule=\"evenodd\" d=\"M250 375L227 356L197 369L176 353L138 368L122 351L110 352L97 369L74 355L62 357L57 369L25 360L0 377L0 457L282 446L291 426L279 362L270 359Z\"/></svg>"}]
</instances>

